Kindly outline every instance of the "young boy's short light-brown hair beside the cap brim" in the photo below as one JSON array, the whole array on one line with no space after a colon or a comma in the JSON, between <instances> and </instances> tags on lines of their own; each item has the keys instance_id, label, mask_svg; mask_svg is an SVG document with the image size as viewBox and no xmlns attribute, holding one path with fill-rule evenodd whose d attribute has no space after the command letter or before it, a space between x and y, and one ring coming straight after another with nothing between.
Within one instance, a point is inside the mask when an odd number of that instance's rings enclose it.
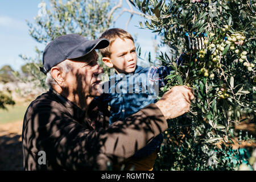
<instances>
[{"instance_id":1,"label":"young boy's short light-brown hair beside the cap brim","mask_svg":"<svg viewBox=\"0 0 256 182\"><path fill-rule=\"evenodd\" d=\"M109 39L109 42L110 42L108 47L106 47L104 49L100 49L101 55L103 57L110 57L110 55L111 55L110 46L112 45L112 43L114 42L114 40L116 38L133 40L133 37L127 31L125 31L121 28L111 28L109 30L106 30L100 36L100 39L101 38ZM134 42L134 40L133 40L133 42Z\"/></svg>"}]
</instances>

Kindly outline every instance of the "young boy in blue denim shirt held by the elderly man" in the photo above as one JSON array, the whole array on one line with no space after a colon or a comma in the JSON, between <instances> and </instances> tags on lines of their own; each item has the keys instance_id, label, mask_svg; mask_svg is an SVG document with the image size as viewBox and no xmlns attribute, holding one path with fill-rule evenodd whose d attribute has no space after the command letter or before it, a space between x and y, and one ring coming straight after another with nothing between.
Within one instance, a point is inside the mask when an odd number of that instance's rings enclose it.
<instances>
[{"instance_id":1,"label":"young boy in blue denim shirt held by the elderly man","mask_svg":"<svg viewBox=\"0 0 256 182\"><path fill-rule=\"evenodd\" d=\"M104 83L104 93L96 99L108 102L111 125L155 103L159 86L166 84L164 78L170 75L171 68L139 67L133 37L125 30L112 28L105 31L100 38L110 41L110 46L100 51L102 61L109 68L114 68L115 73L110 76L110 81ZM176 60L177 64L182 64L183 55L184 53ZM134 167L136 171L152 170L162 142L163 135L156 136L146 147L123 162L124 169Z\"/></svg>"}]
</instances>

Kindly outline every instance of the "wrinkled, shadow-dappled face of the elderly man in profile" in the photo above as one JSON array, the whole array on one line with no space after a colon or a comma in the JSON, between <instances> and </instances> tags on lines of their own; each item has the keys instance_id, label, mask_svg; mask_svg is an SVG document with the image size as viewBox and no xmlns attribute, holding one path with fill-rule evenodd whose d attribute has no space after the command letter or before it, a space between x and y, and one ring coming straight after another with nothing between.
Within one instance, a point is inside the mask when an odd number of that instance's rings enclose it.
<instances>
[{"instance_id":1,"label":"wrinkled, shadow-dappled face of the elderly man in profile","mask_svg":"<svg viewBox=\"0 0 256 182\"><path fill-rule=\"evenodd\" d=\"M84 57L67 60L71 66L71 71L65 76L65 85L69 94L79 99L100 96L101 78L98 75L104 71L98 65L97 59L96 51L92 51Z\"/></svg>"}]
</instances>

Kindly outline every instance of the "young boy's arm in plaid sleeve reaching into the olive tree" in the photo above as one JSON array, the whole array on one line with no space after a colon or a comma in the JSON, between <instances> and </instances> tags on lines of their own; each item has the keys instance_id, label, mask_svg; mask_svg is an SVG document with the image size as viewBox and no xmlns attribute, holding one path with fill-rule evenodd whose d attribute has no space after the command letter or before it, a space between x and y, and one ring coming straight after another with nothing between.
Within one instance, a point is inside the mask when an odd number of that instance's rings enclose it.
<instances>
[{"instance_id":1,"label":"young boy's arm in plaid sleeve reaching into the olive tree","mask_svg":"<svg viewBox=\"0 0 256 182\"><path fill-rule=\"evenodd\" d=\"M178 59L175 60L177 65L182 65L185 59L186 52L181 53ZM166 85L167 80L164 78L170 75L170 72L173 71L171 67L161 66L161 67L150 67L148 71L148 77L151 82L158 81L159 87Z\"/></svg>"}]
</instances>

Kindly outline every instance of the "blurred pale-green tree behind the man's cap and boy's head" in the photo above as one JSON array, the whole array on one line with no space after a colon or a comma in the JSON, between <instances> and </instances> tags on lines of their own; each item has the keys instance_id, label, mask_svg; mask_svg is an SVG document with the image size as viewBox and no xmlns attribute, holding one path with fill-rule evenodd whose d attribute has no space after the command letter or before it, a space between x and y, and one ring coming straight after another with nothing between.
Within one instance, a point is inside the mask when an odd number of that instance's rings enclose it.
<instances>
[{"instance_id":1,"label":"blurred pale-green tree behind the man's cap and boy's head","mask_svg":"<svg viewBox=\"0 0 256 182\"><path fill-rule=\"evenodd\" d=\"M146 17L143 13L135 11L128 0L125 2L129 8L124 7L124 0L49 0L50 8L42 1L39 4L39 13L34 18L35 22L27 21L29 34L36 42L42 43L43 47L51 40L65 34L80 34L87 39L97 39L102 32L113 26L123 13L131 15L127 19L126 27L134 14ZM43 50L35 47L35 51L35 57L20 55L26 63L23 69L26 69L26 73L30 76L23 77L18 73L15 76L24 82L35 82L35 86L41 87L43 92L47 89L44 83L45 76L39 71L39 67L42 67ZM99 61L99 64L105 70L105 79L108 79L109 68L102 61Z\"/></svg>"}]
</instances>

